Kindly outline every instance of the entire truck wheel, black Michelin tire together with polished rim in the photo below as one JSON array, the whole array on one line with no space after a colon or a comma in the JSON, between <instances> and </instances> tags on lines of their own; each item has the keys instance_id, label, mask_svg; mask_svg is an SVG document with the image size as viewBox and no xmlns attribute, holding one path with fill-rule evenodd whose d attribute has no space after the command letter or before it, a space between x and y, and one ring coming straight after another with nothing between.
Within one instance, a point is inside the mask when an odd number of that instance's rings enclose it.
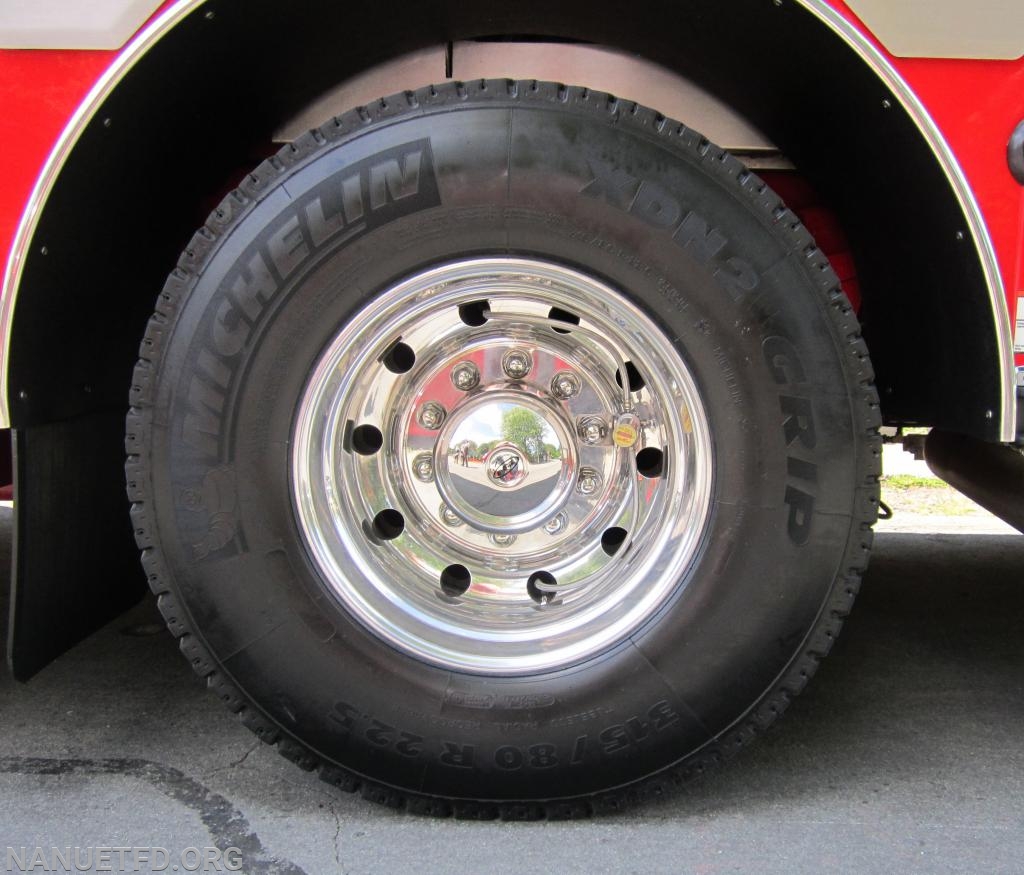
<instances>
[{"instance_id":1,"label":"entire truck wheel, black Michelin tire together with polished rim","mask_svg":"<svg viewBox=\"0 0 1024 875\"><path fill-rule=\"evenodd\" d=\"M866 565L878 400L835 274L738 161L605 94L332 120L214 211L140 355L171 631L260 738L389 805L660 794L785 709Z\"/></svg>"}]
</instances>

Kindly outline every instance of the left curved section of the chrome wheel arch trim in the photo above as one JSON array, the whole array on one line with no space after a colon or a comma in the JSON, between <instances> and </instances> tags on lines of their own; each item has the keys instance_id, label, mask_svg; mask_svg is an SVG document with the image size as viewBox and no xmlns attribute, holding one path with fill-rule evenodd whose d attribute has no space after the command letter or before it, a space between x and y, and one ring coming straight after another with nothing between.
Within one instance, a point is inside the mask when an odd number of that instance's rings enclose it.
<instances>
[{"instance_id":1,"label":"left curved section of the chrome wheel arch trim","mask_svg":"<svg viewBox=\"0 0 1024 875\"><path fill-rule=\"evenodd\" d=\"M29 246L35 237L39 217L42 215L43 207L49 199L57 176L86 126L92 121L93 116L121 80L168 31L204 2L205 0L178 0L128 44L106 69L106 72L96 80L96 84L92 86L88 95L79 105L75 115L71 117L71 121L68 122L60 134L60 138L53 147L49 158L46 159L46 164L43 165L43 170L39 174L36 186L33 189L29 203L22 214L22 221L14 235L10 256L4 270L3 292L2 297L0 297L0 337L2 337L3 343L2 350L0 350L2 351L2 358L0 358L0 428L10 428L7 381L10 377L8 363L10 361L11 320L14 316L14 302L22 284L22 272L25 269Z\"/></svg>"}]
</instances>

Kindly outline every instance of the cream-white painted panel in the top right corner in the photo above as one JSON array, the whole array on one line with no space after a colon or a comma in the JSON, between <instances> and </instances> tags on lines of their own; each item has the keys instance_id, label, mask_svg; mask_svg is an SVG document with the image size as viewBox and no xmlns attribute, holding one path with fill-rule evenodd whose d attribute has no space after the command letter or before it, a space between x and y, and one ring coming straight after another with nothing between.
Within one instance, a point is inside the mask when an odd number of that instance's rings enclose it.
<instances>
[{"instance_id":1,"label":"cream-white painted panel in the top right corner","mask_svg":"<svg viewBox=\"0 0 1024 875\"><path fill-rule=\"evenodd\" d=\"M1024 55L1022 0L847 0L898 57L1014 60Z\"/></svg>"}]
</instances>

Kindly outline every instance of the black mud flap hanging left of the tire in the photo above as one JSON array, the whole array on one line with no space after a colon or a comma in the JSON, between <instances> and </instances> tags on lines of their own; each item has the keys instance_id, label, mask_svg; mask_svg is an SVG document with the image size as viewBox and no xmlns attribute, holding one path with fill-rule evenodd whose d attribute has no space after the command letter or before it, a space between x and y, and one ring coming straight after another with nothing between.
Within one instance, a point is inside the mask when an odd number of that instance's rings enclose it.
<instances>
[{"instance_id":1,"label":"black mud flap hanging left of the tire","mask_svg":"<svg viewBox=\"0 0 1024 875\"><path fill-rule=\"evenodd\" d=\"M124 489L124 413L14 430L7 660L28 680L145 592Z\"/></svg>"}]
</instances>

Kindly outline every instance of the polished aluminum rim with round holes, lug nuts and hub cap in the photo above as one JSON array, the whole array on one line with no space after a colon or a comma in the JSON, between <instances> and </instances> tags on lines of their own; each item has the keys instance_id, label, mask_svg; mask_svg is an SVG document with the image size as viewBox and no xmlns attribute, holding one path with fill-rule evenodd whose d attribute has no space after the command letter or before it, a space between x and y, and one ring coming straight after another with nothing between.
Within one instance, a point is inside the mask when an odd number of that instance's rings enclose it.
<instances>
[{"instance_id":1,"label":"polished aluminum rim with round holes, lug nuts and hub cap","mask_svg":"<svg viewBox=\"0 0 1024 875\"><path fill-rule=\"evenodd\" d=\"M711 504L679 350L622 293L521 258L376 297L300 399L292 486L341 603L445 668L551 670L683 585Z\"/></svg>"}]
</instances>

